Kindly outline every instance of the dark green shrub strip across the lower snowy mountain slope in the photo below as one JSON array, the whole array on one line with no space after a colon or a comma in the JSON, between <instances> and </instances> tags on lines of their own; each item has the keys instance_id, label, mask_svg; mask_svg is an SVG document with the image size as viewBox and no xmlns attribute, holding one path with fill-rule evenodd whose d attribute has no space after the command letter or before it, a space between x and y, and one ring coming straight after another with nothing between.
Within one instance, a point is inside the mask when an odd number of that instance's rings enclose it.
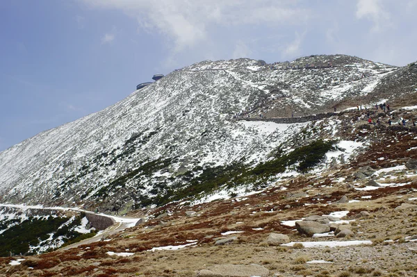
<instances>
[{"instance_id":1,"label":"dark green shrub strip across the lower snowy mountain slope","mask_svg":"<svg viewBox=\"0 0 417 277\"><path fill-rule=\"evenodd\" d=\"M255 167L245 165L243 162L234 162L231 165L219 167L195 167L185 174L178 176L177 185L168 187L163 183L154 185L150 195L140 196L139 205L164 205L170 201L188 199L201 194L207 194L220 187L238 187L240 185L253 185L254 188L265 187L274 176L293 167L297 171L306 172L317 165L325 154L334 149L334 141L317 140L283 154L275 151L274 158L260 163ZM172 180L173 181L173 180Z\"/></svg>"}]
</instances>

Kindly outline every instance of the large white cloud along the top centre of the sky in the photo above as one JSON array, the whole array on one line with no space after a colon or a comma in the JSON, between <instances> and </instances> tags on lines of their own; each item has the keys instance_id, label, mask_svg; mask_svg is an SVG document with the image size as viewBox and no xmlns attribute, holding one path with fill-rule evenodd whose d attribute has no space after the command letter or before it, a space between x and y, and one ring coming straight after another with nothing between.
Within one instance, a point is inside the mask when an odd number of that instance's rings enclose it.
<instances>
[{"instance_id":1,"label":"large white cloud along the top centre of the sky","mask_svg":"<svg viewBox=\"0 0 417 277\"><path fill-rule=\"evenodd\" d=\"M93 8L113 8L136 17L140 30L162 33L174 44L174 52L184 51L212 40L213 24L302 24L309 10L297 8L290 0L79 0Z\"/></svg>"}]
</instances>

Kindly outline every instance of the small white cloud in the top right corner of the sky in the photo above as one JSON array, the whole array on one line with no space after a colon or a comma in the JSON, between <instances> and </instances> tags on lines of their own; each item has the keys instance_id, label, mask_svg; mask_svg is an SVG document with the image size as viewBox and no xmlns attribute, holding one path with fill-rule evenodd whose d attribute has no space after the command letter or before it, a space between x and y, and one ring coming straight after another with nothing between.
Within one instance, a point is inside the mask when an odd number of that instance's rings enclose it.
<instances>
[{"instance_id":1,"label":"small white cloud in the top right corner of the sky","mask_svg":"<svg viewBox=\"0 0 417 277\"><path fill-rule=\"evenodd\" d=\"M386 26L389 26L390 15L382 7L379 0L358 0L357 2L357 18L363 17L373 21L371 31L379 32Z\"/></svg>"}]
</instances>

